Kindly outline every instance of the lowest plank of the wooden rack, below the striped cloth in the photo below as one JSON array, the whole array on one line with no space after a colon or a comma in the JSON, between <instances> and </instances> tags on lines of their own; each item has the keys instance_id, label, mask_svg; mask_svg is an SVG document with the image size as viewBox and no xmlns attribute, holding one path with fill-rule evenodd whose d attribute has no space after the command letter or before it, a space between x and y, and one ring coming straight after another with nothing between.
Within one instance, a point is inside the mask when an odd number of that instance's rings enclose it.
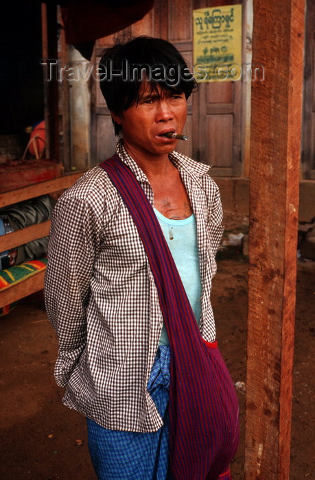
<instances>
[{"instance_id":1,"label":"lowest plank of the wooden rack, below the striped cloth","mask_svg":"<svg viewBox=\"0 0 315 480\"><path fill-rule=\"evenodd\" d=\"M21 298L32 295L36 291L43 290L45 271L46 269L22 280L21 283L16 283L12 287L0 291L0 309L5 305L17 302Z\"/></svg>"}]
</instances>

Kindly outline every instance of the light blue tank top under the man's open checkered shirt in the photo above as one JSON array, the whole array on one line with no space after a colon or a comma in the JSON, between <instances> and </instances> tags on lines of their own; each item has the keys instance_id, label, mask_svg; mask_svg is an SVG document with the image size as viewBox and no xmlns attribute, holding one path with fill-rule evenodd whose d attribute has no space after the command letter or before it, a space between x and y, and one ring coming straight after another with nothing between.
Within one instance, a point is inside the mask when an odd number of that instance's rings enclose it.
<instances>
[{"instance_id":1,"label":"light blue tank top under the man's open checkered shirt","mask_svg":"<svg viewBox=\"0 0 315 480\"><path fill-rule=\"evenodd\" d=\"M167 245L185 287L188 300L199 324L201 315L201 282L197 247L197 229L195 215L183 220L164 217L156 208L154 213L159 220ZM169 345L165 325L163 324L160 345Z\"/></svg>"}]
</instances>

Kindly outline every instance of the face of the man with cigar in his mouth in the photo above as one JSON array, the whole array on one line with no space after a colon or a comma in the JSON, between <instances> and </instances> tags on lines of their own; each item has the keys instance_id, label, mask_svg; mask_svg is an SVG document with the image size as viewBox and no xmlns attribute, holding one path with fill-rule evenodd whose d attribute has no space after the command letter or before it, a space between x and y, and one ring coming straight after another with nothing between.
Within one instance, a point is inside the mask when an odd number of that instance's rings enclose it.
<instances>
[{"instance_id":1,"label":"face of the man with cigar in his mouth","mask_svg":"<svg viewBox=\"0 0 315 480\"><path fill-rule=\"evenodd\" d=\"M143 81L139 102L124 110L121 116L113 115L121 125L124 145L133 153L161 156L169 154L177 141L161 136L163 133L182 133L187 117L187 100L184 93L170 93L158 86L159 95L149 82Z\"/></svg>"}]
</instances>

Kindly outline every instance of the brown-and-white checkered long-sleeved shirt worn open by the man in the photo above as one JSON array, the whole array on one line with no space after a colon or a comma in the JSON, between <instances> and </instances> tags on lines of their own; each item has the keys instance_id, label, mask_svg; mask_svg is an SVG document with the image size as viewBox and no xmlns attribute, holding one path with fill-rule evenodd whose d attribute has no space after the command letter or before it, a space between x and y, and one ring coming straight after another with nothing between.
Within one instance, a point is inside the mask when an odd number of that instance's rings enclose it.
<instances>
[{"instance_id":1,"label":"brown-and-white checkered long-sleeved shirt worn open by the man","mask_svg":"<svg viewBox=\"0 0 315 480\"><path fill-rule=\"evenodd\" d=\"M153 206L148 178L117 143ZM215 340L210 302L222 238L218 186L209 165L170 154L196 216L200 333ZM184 248L184 246L183 246ZM106 171L94 167L60 197L51 219L45 275L47 315L59 341L55 376L63 402L107 429L151 432L163 420L147 384L163 316L148 258L128 208Z\"/></svg>"}]
</instances>

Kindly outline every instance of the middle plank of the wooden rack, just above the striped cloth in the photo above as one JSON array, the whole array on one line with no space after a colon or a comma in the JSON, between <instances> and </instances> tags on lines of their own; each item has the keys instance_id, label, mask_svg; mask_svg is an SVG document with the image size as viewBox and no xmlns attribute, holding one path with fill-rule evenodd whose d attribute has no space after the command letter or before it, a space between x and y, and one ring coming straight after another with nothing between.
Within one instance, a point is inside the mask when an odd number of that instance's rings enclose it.
<instances>
[{"instance_id":1,"label":"middle plank of the wooden rack, just above the striped cloth","mask_svg":"<svg viewBox=\"0 0 315 480\"><path fill-rule=\"evenodd\" d=\"M42 221L40 224L30 225L29 227L21 228L12 233L1 235L0 237L0 252L5 252L10 248L19 247L29 241L41 239L49 235L51 221Z\"/></svg>"}]
</instances>

